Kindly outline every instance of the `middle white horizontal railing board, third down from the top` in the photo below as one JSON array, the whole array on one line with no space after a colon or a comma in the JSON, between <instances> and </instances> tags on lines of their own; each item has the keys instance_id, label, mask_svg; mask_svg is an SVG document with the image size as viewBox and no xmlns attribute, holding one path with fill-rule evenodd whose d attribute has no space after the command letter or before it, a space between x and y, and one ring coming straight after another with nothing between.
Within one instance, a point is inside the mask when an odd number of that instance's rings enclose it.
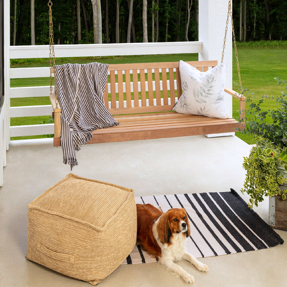
<instances>
[{"instance_id":1,"label":"middle white horizontal railing board, third down from the top","mask_svg":"<svg viewBox=\"0 0 287 287\"><path fill-rule=\"evenodd\" d=\"M141 91L140 82L137 83L138 91ZM177 80L174 80L175 90L177 88ZM152 82L152 88L155 91L155 81ZM169 80L167 80L167 89L170 90ZM53 86L54 90L54 86ZM160 81L160 90L162 90L162 81ZM146 91L148 91L148 82L146 82ZM123 82L123 92L126 92L125 82ZM131 92L133 92L133 82L131 82ZM110 83L108 83L108 93L110 93ZM116 83L116 93L118 93L118 83ZM50 96L50 86L41 87L21 87L10 88L10 98L27 98L27 97L44 97Z\"/></svg>"}]
</instances>

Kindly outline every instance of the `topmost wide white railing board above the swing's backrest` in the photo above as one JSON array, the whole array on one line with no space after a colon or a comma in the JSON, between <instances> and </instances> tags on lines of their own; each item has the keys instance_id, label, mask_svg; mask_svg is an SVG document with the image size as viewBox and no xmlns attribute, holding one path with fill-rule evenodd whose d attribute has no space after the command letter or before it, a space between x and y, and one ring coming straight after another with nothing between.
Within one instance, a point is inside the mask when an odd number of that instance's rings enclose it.
<instances>
[{"instance_id":1,"label":"topmost wide white railing board above the swing's backrest","mask_svg":"<svg viewBox=\"0 0 287 287\"><path fill-rule=\"evenodd\" d=\"M201 53L202 42L55 45L56 57ZM10 46L10 59L49 58L49 45Z\"/></svg>"}]
</instances>

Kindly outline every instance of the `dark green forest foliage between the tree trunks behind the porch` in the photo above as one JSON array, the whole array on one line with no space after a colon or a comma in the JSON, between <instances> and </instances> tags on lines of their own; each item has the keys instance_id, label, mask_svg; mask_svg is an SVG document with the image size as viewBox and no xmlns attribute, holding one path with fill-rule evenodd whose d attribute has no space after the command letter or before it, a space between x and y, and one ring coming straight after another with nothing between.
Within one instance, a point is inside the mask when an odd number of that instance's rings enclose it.
<instances>
[{"instance_id":1,"label":"dark green forest foliage between the tree trunks behind the porch","mask_svg":"<svg viewBox=\"0 0 287 287\"><path fill-rule=\"evenodd\" d=\"M48 16L48 1L35 1L35 40L37 45L49 44L49 16ZM120 23L120 42L126 42L127 26L129 18L128 1L119 1L119 23ZM266 21L266 7L269 9L269 23ZM15 1L10 1L10 40L13 44L13 27L14 27L14 4ZM31 43L31 7L30 0L16 1L16 45L29 45ZM226 2L227 5L228 1ZM83 6L82 6L83 4ZM135 40L133 42L141 42L143 39L142 28L142 0L133 2L133 23L135 28ZM93 12L91 0L83 0L80 5L81 17L81 39L77 39L77 1L61 0L53 1L53 31L55 44L58 39L60 44L86 44L93 43ZM106 41L106 23L108 23L108 40L110 43L115 42L115 22L116 22L116 0L108 0L106 7L105 0L101 0L102 9L102 39ZM184 41L187 0L177 0L166 2L159 1L159 7L154 1L154 17L156 18L156 10L159 10L159 42L165 41L166 38L166 19L168 19L168 40L169 41ZM190 23L188 30L188 38L191 41L198 39L198 0L193 0L190 11ZM108 10L108 19L106 19L106 10ZM239 40L239 1L233 1L233 20L236 33L236 39ZM247 0L246 11L246 39L262 40L276 39L287 40L287 1L268 0L254 1ZM86 21L84 21L84 11L86 13ZM244 9L242 11L242 17ZM227 15L226 15L227 16ZM107 21L106 21L107 20ZM148 39L151 42L152 38L152 1L148 1ZM243 21L242 21L243 22ZM255 25L254 25L255 24ZM242 25L243 30L243 25ZM242 32L243 35L243 32ZM223 39L222 39L223 40ZM280 41L278 41L280 42ZM274 45L273 43L272 45ZM276 46L281 46L281 42ZM261 43L259 47L268 46L269 44ZM286 45L286 44L285 44ZM253 44L248 44L253 47ZM256 46L257 47L257 46ZM286 46L285 46L286 47Z\"/></svg>"}]
</instances>

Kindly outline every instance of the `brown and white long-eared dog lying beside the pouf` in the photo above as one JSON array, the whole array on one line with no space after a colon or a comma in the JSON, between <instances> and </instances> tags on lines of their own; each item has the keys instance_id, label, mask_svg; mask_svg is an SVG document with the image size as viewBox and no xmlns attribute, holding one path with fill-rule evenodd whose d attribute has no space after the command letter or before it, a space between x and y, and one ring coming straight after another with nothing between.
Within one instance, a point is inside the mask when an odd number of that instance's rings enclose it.
<instances>
[{"instance_id":1,"label":"brown and white long-eared dog lying beside the pouf","mask_svg":"<svg viewBox=\"0 0 287 287\"><path fill-rule=\"evenodd\" d=\"M185 259L198 270L207 272L208 266L185 250L190 227L184 208L172 208L166 213L151 204L137 204L137 241L158 262L187 283L194 277L174 262Z\"/></svg>"}]
</instances>

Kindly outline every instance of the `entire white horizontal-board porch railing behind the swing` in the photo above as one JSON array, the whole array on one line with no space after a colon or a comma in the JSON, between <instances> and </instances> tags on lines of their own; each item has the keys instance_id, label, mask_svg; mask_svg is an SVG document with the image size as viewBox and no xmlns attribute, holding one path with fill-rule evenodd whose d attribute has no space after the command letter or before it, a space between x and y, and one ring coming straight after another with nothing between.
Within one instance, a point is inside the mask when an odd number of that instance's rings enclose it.
<instances>
[{"instance_id":1,"label":"entire white horizontal-board porch railing behind the swing","mask_svg":"<svg viewBox=\"0 0 287 287\"><path fill-rule=\"evenodd\" d=\"M130 44L83 44L83 45L55 45L56 57L93 57L93 56L119 56L119 55L156 55L156 54L182 54L201 53L202 42L163 42L163 43L130 43ZM49 46L10 46L10 59L47 58ZM144 56L143 56L144 57ZM138 71L139 73L139 71ZM35 68L10 68L10 79L49 77L49 67ZM174 85L176 87L176 83ZM162 82L160 82L162 90ZM125 92L125 83L123 85ZM169 81L168 81L169 89ZM138 83L140 91L140 83ZM146 82L146 90L148 83ZM153 90L155 84L153 82ZM110 84L108 84L110 93ZM116 84L116 92L118 87ZM131 92L133 84L131 83ZM17 87L9 89L10 98L49 96L49 86ZM11 117L34 117L52 114L51 105L42 106L17 106L9 108ZM22 125L10 127L10 137L45 135L53 133L53 125Z\"/></svg>"}]
</instances>

